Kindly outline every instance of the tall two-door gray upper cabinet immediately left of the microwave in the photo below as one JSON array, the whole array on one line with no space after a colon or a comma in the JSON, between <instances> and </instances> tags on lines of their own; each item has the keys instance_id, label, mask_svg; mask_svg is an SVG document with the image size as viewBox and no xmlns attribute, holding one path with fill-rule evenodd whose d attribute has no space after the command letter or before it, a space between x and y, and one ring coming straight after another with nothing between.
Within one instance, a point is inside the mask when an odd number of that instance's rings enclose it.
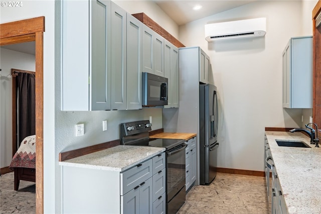
<instances>
[{"instance_id":1,"label":"tall two-door gray upper cabinet immediately left of the microwave","mask_svg":"<svg viewBox=\"0 0 321 214\"><path fill-rule=\"evenodd\" d=\"M142 23L111 3L111 109L141 109Z\"/></svg>"}]
</instances>

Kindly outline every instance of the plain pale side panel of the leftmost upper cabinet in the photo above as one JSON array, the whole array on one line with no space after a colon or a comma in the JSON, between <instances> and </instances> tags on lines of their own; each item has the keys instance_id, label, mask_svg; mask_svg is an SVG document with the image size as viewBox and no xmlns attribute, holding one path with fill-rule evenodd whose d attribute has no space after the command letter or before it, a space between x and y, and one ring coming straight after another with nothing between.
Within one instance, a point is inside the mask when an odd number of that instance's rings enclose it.
<instances>
[{"instance_id":1,"label":"plain pale side panel of the leftmost upper cabinet","mask_svg":"<svg viewBox=\"0 0 321 214\"><path fill-rule=\"evenodd\" d=\"M89 110L89 16L89 2L62 2L63 111Z\"/></svg>"}]
</instances>

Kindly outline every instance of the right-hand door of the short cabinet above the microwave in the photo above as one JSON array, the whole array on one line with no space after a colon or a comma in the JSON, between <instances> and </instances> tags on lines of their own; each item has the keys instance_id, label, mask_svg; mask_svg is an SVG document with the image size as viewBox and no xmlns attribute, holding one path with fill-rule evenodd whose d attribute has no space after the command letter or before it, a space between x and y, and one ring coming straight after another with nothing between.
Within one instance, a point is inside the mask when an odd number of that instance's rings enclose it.
<instances>
[{"instance_id":1,"label":"right-hand door of the short cabinet above the microwave","mask_svg":"<svg viewBox=\"0 0 321 214\"><path fill-rule=\"evenodd\" d=\"M164 38L153 32L152 60L154 74L164 76Z\"/></svg>"}]
</instances>

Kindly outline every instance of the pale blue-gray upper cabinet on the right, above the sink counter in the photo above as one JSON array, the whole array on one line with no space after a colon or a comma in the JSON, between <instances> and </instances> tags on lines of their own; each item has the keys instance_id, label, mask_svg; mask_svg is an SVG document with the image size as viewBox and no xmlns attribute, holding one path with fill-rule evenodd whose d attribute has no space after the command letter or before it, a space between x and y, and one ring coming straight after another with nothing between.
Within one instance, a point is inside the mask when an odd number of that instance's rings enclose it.
<instances>
[{"instance_id":1,"label":"pale blue-gray upper cabinet on the right, above the sink counter","mask_svg":"<svg viewBox=\"0 0 321 214\"><path fill-rule=\"evenodd\" d=\"M282 53L283 108L312 108L312 36L293 37Z\"/></svg>"}]
</instances>

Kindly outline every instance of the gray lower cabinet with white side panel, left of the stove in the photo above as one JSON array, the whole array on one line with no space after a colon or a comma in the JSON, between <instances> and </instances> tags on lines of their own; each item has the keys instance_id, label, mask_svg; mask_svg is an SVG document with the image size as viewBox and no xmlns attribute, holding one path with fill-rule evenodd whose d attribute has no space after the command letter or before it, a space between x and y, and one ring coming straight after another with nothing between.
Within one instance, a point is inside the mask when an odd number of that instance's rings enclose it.
<instances>
[{"instance_id":1,"label":"gray lower cabinet with white side panel, left of the stove","mask_svg":"<svg viewBox=\"0 0 321 214\"><path fill-rule=\"evenodd\" d=\"M63 213L165 213L165 153L125 171L62 166Z\"/></svg>"}]
</instances>

